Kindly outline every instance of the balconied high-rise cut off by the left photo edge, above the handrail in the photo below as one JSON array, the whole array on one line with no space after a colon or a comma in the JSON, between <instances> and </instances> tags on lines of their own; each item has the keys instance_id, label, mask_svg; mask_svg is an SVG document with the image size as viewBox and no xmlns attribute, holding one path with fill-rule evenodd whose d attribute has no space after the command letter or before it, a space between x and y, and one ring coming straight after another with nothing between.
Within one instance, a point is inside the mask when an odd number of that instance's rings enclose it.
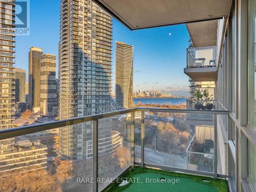
<instances>
[{"instance_id":1,"label":"balconied high-rise cut off by the left photo edge, above the handrail","mask_svg":"<svg viewBox=\"0 0 256 192\"><path fill-rule=\"evenodd\" d=\"M13 126L12 114L15 102L15 34L12 2L0 2L0 13L5 18L0 22L0 130Z\"/></svg>"}]
</instances>

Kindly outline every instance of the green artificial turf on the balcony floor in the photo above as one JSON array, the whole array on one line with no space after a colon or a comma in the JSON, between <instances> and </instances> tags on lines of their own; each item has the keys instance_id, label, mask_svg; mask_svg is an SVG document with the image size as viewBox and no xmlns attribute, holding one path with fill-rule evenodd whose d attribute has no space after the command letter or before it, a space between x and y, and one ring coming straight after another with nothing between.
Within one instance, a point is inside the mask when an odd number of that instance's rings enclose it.
<instances>
[{"instance_id":1,"label":"green artificial turf on the balcony floor","mask_svg":"<svg viewBox=\"0 0 256 192\"><path fill-rule=\"evenodd\" d=\"M127 172L121 178L133 178L133 179L132 180L128 179L130 183L121 187L118 186L120 183L114 183L106 191L108 192L121 192L121 191L123 192L143 192L143 191L145 192L151 192L151 191L226 192L228 191L227 182L226 180L223 180L223 179L214 179L209 177L178 174L178 173L167 172L159 169L136 167L134 170L129 170L129 172ZM136 180L135 178L139 178L139 179ZM152 182L153 180L151 180L151 182L148 182L149 179L146 179L146 178L155 179L155 180L154 182ZM163 183L156 182L157 178L158 179L164 178L165 181L162 181ZM176 179L179 179L179 182L176 182L177 181ZM208 180L209 182L203 182L203 180Z\"/></svg>"}]
</instances>

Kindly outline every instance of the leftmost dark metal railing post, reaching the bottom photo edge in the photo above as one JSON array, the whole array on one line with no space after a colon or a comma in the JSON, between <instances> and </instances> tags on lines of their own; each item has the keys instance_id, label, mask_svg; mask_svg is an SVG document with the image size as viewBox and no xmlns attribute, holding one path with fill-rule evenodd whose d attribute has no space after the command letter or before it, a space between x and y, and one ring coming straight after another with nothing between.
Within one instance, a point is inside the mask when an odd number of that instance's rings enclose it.
<instances>
[{"instance_id":1,"label":"leftmost dark metal railing post, reaching the bottom photo edge","mask_svg":"<svg viewBox=\"0 0 256 192\"><path fill-rule=\"evenodd\" d=\"M98 192L98 120L93 120L93 192Z\"/></svg>"}]
</instances>

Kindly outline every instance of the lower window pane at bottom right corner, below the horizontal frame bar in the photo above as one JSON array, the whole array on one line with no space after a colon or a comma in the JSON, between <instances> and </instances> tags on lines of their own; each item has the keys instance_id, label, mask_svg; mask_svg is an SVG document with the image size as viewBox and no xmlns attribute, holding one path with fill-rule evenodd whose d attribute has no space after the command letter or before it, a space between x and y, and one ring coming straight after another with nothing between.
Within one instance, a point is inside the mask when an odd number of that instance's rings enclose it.
<instances>
[{"instance_id":1,"label":"lower window pane at bottom right corner, below the horizontal frame bar","mask_svg":"<svg viewBox=\"0 0 256 192\"><path fill-rule=\"evenodd\" d=\"M248 142L248 178L251 186L256 191L256 147Z\"/></svg>"}]
</instances>

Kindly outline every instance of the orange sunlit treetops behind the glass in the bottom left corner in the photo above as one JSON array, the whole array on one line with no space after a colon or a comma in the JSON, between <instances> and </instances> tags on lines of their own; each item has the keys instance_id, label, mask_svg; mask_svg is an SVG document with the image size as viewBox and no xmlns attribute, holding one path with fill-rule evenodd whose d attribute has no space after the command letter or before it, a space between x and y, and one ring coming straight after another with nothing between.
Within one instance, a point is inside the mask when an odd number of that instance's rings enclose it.
<instances>
[{"instance_id":1,"label":"orange sunlit treetops behind the glass in the bottom left corner","mask_svg":"<svg viewBox=\"0 0 256 192\"><path fill-rule=\"evenodd\" d=\"M9 174L1 174L0 191L60 192L65 189L65 184L72 176L72 165L68 161L61 161L54 174L47 172L46 169L37 170L37 168L37 166L34 166L22 170L30 171L28 173L14 170Z\"/></svg>"}]
</instances>

